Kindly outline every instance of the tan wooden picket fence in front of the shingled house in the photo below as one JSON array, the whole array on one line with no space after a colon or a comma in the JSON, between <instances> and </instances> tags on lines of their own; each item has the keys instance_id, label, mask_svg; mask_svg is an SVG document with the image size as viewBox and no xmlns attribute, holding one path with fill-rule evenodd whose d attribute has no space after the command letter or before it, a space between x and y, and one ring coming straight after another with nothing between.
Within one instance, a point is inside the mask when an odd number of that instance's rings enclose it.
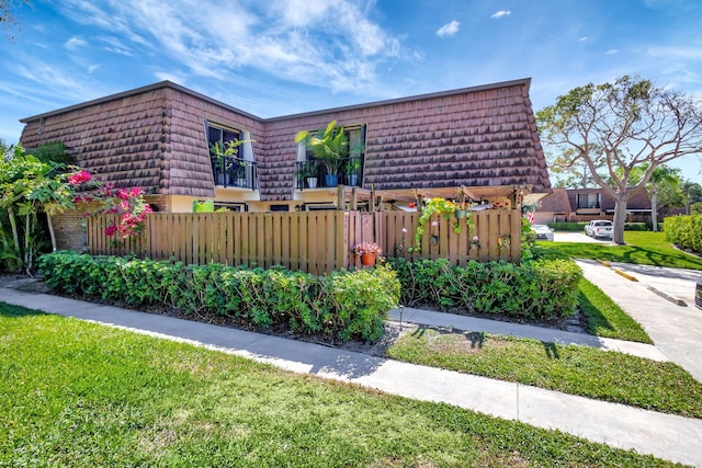
<instances>
[{"instance_id":1,"label":"tan wooden picket fence in front of the shingled house","mask_svg":"<svg viewBox=\"0 0 702 468\"><path fill-rule=\"evenodd\" d=\"M468 260L519 262L519 210L486 210L472 214L474 229L465 219L461 231L434 217L426 228L421 249L409 251L418 213L301 212L301 213L152 213L144 232L116 240L104 235L115 219L88 218L91 254L135 253L152 260L176 259L188 264L211 262L228 265L283 265L313 274L360 267L351 253L356 242L375 241L386 256L408 260L446 258L454 264ZM478 241L472 242L477 236Z\"/></svg>"}]
</instances>

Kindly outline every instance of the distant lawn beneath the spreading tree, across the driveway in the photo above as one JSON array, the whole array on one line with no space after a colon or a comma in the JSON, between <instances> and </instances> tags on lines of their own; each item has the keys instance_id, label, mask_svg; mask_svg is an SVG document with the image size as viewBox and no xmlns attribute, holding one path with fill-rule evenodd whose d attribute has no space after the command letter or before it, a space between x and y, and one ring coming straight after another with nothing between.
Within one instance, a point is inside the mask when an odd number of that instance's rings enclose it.
<instances>
[{"instance_id":1,"label":"distant lawn beneath the spreading tree, across the driveway","mask_svg":"<svg viewBox=\"0 0 702 468\"><path fill-rule=\"evenodd\" d=\"M624 231L624 241L627 246L543 241L539 244L578 259L702 270L702 259L675 249L665 232Z\"/></svg>"}]
</instances>

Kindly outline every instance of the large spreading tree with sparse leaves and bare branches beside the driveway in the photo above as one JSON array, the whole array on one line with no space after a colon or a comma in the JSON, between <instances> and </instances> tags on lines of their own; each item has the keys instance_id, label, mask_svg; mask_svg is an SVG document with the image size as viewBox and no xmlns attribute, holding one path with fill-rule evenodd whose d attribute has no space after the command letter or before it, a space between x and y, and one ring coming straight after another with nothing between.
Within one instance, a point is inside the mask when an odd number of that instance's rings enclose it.
<instances>
[{"instance_id":1,"label":"large spreading tree with sparse leaves and bare branches beside the driveway","mask_svg":"<svg viewBox=\"0 0 702 468\"><path fill-rule=\"evenodd\" d=\"M619 244L624 243L626 204L656 168L702 152L700 103L638 77L575 88L537 112L536 123L545 145L561 150L570 164L585 161L614 198L613 241ZM641 180L632 183L632 171L646 163Z\"/></svg>"}]
</instances>

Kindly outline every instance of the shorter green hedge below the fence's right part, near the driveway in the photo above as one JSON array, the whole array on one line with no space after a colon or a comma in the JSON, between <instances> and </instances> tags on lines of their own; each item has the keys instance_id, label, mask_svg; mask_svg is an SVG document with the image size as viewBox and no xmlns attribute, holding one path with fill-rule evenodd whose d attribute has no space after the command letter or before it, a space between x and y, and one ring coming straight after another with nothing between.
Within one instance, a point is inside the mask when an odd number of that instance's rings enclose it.
<instances>
[{"instance_id":1,"label":"shorter green hedge below the fence's right part, near the driveway","mask_svg":"<svg viewBox=\"0 0 702 468\"><path fill-rule=\"evenodd\" d=\"M575 313L580 267L571 260L512 263L446 260L408 262L390 259L403 285L406 306L430 306L478 313L502 313L526 320L550 320Z\"/></svg>"}]
</instances>

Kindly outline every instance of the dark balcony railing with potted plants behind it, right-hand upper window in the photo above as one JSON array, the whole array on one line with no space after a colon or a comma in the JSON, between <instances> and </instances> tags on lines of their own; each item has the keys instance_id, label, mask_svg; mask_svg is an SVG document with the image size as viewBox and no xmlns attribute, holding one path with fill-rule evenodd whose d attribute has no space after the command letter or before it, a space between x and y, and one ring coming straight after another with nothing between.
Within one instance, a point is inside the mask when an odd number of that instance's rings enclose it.
<instances>
[{"instance_id":1,"label":"dark balcony railing with potted plants behind it, right-hand upper window","mask_svg":"<svg viewBox=\"0 0 702 468\"><path fill-rule=\"evenodd\" d=\"M329 173L324 161L298 161L295 168L295 189L325 189L337 185L363 185L363 158L343 158L339 160L336 173ZM328 178L327 175L331 175ZM336 175L336 178L333 178Z\"/></svg>"}]
</instances>

